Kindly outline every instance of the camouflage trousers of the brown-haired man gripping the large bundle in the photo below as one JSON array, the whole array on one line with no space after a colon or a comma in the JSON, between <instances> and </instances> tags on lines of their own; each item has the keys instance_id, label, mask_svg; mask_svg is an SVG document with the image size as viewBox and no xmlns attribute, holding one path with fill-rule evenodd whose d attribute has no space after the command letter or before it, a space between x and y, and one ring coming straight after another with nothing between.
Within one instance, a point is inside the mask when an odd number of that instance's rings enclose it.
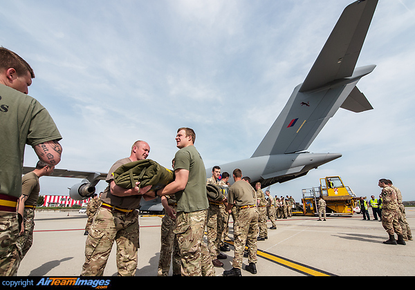
<instances>
[{"instance_id":1,"label":"camouflage trousers of the brown-haired man gripping the large bundle","mask_svg":"<svg viewBox=\"0 0 415 290\"><path fill-rule=\"evenodd\" d=\"M185 213L176 218L176 238L181 251L182 276L214 276L208 247L203 242L207 210Z\"/></svg>"}]
</instances>

